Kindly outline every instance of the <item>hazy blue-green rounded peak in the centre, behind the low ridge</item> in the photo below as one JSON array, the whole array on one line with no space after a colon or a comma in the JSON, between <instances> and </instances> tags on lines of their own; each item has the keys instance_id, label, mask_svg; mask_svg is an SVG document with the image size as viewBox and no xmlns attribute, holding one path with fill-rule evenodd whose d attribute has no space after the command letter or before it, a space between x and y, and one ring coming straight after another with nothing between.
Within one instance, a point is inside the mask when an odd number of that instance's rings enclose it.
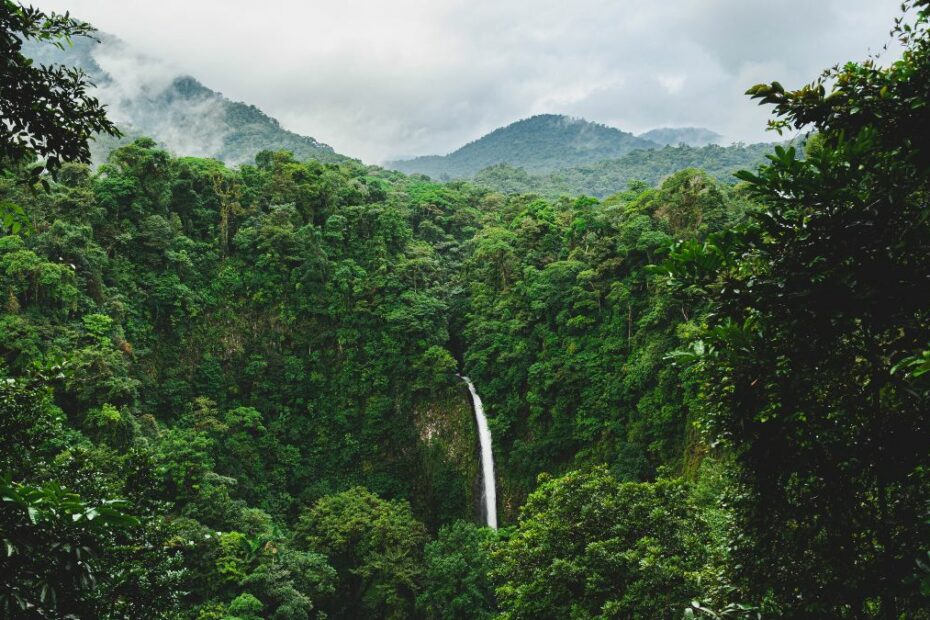
<instances>
[{"instance_id":1,"label":"hazy blue-green rounded peak in the centre, behind the low ridge","mask_svg":"<svg viewBox=\"0 0 930 620\"><path fill-rule=\"evenodd\" d=\"M386 166L437 179L465 178L495 164L546 172L658 146L607 125L543 114L495 129L449 155L394 161Z\"/></svg>"}]
</instances>

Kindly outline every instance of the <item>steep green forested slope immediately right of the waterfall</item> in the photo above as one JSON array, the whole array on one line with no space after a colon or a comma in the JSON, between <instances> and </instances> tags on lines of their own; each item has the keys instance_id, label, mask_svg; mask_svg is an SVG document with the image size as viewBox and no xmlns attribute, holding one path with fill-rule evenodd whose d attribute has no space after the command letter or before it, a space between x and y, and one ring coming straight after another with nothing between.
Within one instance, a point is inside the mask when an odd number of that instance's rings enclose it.
<instances>
[{"instance_id":1,"label":"steep green forested slope immediately right of the waterfall","mask_svg":"<svg viewBox=\"0 0 930 620\"><path fill-rule=\"evenodd\" d=\"M478 232L465 366L486 396L511 515L542 471L608 463L646 480L685 466L693 394L664 356L700 309L674 301L646 266L747 207L684 171L604 202L517 198Z\"/></svg>"}]
</instances>

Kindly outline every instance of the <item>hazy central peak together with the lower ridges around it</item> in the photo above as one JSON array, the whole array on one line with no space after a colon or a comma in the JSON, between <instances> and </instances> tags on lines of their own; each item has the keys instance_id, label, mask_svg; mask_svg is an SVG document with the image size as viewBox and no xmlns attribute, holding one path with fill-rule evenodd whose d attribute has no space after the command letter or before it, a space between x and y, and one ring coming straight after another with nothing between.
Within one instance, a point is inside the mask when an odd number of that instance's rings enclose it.
<instances>
[{"instance_id":1,"label":"hazy central peak together with the lower ridges around it","mask_svg":"<svg viewBox=\"0 0 930 620\"><path fill-rule=\"evenodd\" d=\"M634 137L549 114L497 129L449 155L386 165L434 179L467 179L506 194L606 198L633 181L656 186L687 168L700 168L732 184L736 172L763 163L772 150L771 144L718 146L714 142L719 137L693 127L656 129Z\"/></svg>"}]
</instances>

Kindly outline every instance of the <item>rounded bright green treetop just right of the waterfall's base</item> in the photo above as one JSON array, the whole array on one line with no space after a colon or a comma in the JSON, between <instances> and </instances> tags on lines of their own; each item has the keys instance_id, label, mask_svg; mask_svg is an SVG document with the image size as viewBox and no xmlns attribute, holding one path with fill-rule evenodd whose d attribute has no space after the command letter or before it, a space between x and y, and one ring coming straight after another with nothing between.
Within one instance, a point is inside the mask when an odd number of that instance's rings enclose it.
<instances>
[{"instance_id":1,"label":"rounded bright green treetop just right of the waterfall's base","mask_svg":"<svg viewBox=\"0 0 930 620\"><path fill-rule=\"evenodd\" d=\"M707 533L681 482L542 478L495 549L502 618L680 618Z\"/></svg>"}]
</instances>

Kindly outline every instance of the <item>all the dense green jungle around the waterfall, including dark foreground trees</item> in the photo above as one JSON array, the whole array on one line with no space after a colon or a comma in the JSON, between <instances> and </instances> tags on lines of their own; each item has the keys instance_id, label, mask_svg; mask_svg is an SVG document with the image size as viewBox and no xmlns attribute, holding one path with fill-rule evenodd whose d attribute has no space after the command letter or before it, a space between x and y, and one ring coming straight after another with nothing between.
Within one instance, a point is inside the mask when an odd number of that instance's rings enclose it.
<instances>
[{"instance_id":1,"label":"all the dense green jungle around the waterfall, including dark foreground trees","mask_svg":"<svg viewBox=\"0 0 930 620\"><path fill-rule=\"evenodd\" d=\"M21 54L89 26L0 7L0 615L930 618L930 3L751 89L803 152L603 198L92 169Z\"/></svg>"}]
</instances>

